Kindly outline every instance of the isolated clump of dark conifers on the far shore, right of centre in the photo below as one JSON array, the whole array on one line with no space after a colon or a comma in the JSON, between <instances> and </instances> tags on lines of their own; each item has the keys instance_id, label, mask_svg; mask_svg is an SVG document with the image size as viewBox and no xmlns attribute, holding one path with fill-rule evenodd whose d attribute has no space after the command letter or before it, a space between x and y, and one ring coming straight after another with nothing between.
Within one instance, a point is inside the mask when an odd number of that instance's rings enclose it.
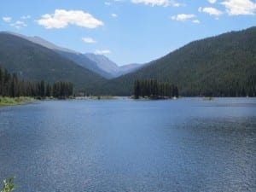
<instances>
[{"instance_id":1,"label":"isolated clump of dark conifers on the far shore, right of centre","mask_svg":"<svg viewBox=\"0 0 256 192\"><path fill-rule=\"evenodd\" d=\"M134 82L134 97L140 96L150 98L163 98L178 96L177 86L169 83L162 83L156 79L142 79Z\"/></svg>"}]
</instances>

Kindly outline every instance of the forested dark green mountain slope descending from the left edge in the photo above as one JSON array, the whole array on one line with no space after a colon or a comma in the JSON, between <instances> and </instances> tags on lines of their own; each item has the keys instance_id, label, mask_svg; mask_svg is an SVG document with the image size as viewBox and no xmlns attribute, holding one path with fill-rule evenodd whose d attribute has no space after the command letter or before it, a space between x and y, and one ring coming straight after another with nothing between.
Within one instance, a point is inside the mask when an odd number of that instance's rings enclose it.
<instances>
[{"instance_id":1,"label":"forested dark green mountain slope descending from the left edge","mask_svg":"<svg viewBox=\"0 0 256 192\"><path fill-rule=\"evenodd\" d=\"M76 89L88 91L105 81L52 49L6 32L0 32L0 66L17 73L21 79L70 81Z\"/></svg>"}]
</instances>

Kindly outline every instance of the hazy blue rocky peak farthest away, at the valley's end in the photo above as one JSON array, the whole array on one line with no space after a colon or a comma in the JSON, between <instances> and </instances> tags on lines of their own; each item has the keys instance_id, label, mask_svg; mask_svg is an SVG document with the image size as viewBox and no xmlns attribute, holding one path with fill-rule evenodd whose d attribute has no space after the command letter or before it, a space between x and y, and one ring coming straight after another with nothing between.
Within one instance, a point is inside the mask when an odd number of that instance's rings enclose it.
<instances>
[{"instance_id":1,"label":"hazy blue rocky peak farthest away, at the valley's end","mask_svg":"<svg viewBox=\"0 0 256 192\"><path fill-rule=\"evenodd\" d=\"M96 55L91 53L87 53L84 55L87 58L89 58L91 61L95 61L97 66L101 67L102 70L111 74L112 78L119 77L126 73L131 73L137 70L139 67L142 67L142 65L139 65L139 64L128 64L128 65L119 67L116 63L114 63L113 61L110 61L108 57L106 57L105 55Z\"/></svg>"}]
</instances>

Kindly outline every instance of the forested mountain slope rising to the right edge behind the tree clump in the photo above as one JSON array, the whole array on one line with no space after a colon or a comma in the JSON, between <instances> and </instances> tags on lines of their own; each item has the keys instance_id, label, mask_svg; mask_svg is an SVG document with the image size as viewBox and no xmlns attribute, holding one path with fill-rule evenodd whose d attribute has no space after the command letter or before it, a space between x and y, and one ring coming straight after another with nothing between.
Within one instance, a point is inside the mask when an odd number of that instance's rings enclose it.
<instances>
[{"instance_id":1,"label":"forested mountain slope rising to the right edge behind the tree clump","mask_svg":"<svg viewBox=\"0 0 256 192\"><path fill-rule=\"evenodd\" d=\"M177 84L182 96L256 96L256 27L205 38L104 84L131 95L136 79Z\"/></svg>"}]
</instances>

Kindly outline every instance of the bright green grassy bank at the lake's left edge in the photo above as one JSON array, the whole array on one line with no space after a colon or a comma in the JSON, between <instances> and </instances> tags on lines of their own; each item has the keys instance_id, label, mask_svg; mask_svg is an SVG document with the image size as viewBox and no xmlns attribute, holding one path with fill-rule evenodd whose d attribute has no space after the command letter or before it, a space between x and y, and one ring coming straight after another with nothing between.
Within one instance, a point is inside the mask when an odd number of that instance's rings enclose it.
<instances>
[{"instance_id":1,"label":"bright green grassy bank at the lake's left edge","mask_svg":"<svg viewBox=\"0 0 256 192\"><path fill-rule=\"evenodd\" d=\"M26 96L20 96L20 97L0 96L0 107L21 105L26 102L34 102L34 101L35 101L34 98L26 97Z\"/></svg>"}]
</instances>

